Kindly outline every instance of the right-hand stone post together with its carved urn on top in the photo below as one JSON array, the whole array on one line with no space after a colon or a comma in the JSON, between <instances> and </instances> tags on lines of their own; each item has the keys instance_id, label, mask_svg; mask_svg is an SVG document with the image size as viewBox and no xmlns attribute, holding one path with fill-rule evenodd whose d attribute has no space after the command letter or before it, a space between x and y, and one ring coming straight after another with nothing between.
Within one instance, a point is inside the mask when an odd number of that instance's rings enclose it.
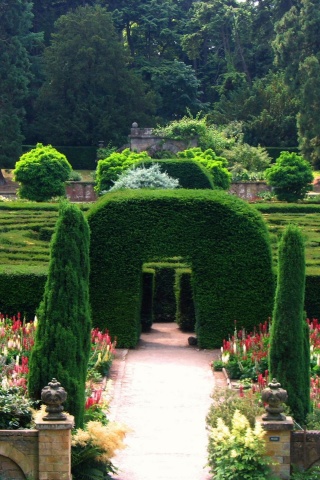
<instances>
[{"instance_id":1,"label":"right-hand stone post together with its carved urn on top","mask_svg":"<svg viewBox=\"0 0 320 480\"><path fill-rule=\"evenodd\" d=\"M290 478L290 443L293 420L283 415L282 402L287 400L287 392L280 388L280 384L273 379L269 387L263 390L262 400L267 404L266 414L257 421L266 432L266 455L275 465L271 468L281 479Z\"/></svg>"}]
</instances>

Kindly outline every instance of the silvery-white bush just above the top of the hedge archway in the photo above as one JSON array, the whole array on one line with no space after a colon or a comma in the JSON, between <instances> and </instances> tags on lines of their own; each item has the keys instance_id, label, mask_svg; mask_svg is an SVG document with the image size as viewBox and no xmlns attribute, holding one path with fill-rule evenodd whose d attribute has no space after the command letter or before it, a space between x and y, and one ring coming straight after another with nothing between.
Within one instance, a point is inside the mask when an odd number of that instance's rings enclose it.
<instances>
[{"instance_id":1,"label":"silvery-white bush just above the top of the hedge archway","mask_svg":"<svg viewBox=\"0 0 320 480\"><path fill-rule=\"evenodd\" d=\"M144 166L128 170L120 175L109 192L125 189L151 188L173 189L179 186L179 180L170 177L167 172L161 172L158 163L151 167Z\"/></svg>"}]
</instances>

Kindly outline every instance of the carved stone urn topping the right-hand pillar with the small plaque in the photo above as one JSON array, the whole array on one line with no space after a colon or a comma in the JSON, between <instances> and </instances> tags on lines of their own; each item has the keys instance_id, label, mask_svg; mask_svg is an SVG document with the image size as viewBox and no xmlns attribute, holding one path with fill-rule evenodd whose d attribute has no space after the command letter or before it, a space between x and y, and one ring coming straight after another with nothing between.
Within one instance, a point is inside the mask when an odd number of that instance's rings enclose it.
<instances>
[{"instance_id":1,"label":"carved stone urn topping the right-hand pillar with the small plaque","mask_svg":"<svg viewBox=\"0 0 320 480\"><path fill-rule=\"evenodd\" d=\"M266 403L266 414L262 416L262 420L266 421L283 421L286 420L283 412L282 403L284 403L288 394L287 391L281 388L281 385L274 378L268 387L262 390L262 401Z\"/></svg>"}]
</instances>

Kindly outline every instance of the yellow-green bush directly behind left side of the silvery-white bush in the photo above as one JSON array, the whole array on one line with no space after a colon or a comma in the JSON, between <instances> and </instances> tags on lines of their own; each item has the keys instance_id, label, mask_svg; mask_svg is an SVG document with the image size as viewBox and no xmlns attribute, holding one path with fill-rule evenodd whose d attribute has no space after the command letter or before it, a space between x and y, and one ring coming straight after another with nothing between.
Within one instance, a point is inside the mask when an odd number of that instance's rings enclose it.
<instances>
[{"instance_id":1,"label":"yellow-green bush directly behind left side of the silvery-white bush","mask_svg":"<svg viewBox=\"0 0 320 480\"><path fill-rule=\"evenodd\" d=\"M119 175L128 170L135 163L143 160L150 160L147 152L131 152L129 148L126 148L121 153L113 152L104 160L99 160L95 190L97 192L109 190Z\"/></svg>"}]
</instances>

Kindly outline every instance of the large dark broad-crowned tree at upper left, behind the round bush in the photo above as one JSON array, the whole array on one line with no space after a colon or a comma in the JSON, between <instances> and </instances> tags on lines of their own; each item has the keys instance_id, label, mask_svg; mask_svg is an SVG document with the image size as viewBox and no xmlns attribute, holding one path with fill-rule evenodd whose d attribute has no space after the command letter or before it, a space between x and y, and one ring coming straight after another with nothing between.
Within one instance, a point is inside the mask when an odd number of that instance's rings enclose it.
<instances>
[{"instance_id":1,"label":"large dark broad-crowned tree at upper left, behind the round bush","mask_svg":"<svg viewBox=\"0 0 320 480\"><path fill-rule=\"evenodd\" d=\"M152 95L129 70L105 8L79 7L61 16L44 61L36 130L46 143L120 143L133 121L151 122Z\"/></svg>"}]
</instances>

